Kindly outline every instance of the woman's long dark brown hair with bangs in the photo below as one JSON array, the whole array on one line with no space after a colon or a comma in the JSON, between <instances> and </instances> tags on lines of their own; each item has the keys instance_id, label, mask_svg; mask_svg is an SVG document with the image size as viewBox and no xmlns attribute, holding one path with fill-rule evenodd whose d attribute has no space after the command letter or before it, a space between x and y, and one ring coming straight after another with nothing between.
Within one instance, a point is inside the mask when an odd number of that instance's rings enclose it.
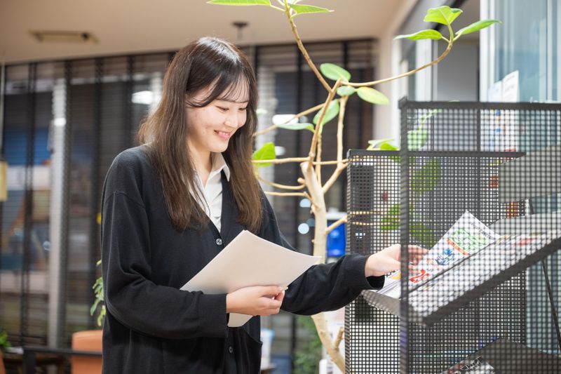
<instances>
[{"instance_id":1,"label":"woman's long dark brown hair with bangs","mask_svg":"<svg viewBox=\"0 0 561 374\"><path fill-rule=\"evenodd\" d=\"M257 232L262 220L261 192L251 163L252 134L257 126L257 84L247 58L236 46L204 37L178 51L165 72L158 107L140 126L138 141L147 145L149 158L160 174L168 214L178 231L205 227L209 222L190 193L203 196L195 182L196 169L187 149L185 106L204 107L217 98L228 98L241 84L247 86L249 93L247 120L234 133L222 155L231 170L238 222ZM211 89L207 98L189 100L208 87Z\"/></svg>"}]
</instances>

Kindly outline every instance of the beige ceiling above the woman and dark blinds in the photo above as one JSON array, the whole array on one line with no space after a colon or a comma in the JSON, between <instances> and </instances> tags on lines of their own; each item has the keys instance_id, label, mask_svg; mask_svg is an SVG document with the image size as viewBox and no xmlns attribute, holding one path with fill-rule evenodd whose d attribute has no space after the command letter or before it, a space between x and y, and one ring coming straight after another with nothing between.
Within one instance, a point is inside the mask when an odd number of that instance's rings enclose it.
<instances>
[{"instance_id":1,"label":"beige ceiling above the woman and dark blinds","mask_svg":"<svg viewBox=\"0 0 561 374\"><path fill-rule=\"evenodd\" d=\"M379 37L411 1L306 3L334 10L296 18L302 39L312 41ZM235 21L248 22L241 39ZM97 44L41 43L30 34L38 30L90 32ZM205 0L0 0L0 59L7 63L170 51L203 35L241 45L292 41L284 15L265 6L215 6Z\"/></svg>"}]
</instances>

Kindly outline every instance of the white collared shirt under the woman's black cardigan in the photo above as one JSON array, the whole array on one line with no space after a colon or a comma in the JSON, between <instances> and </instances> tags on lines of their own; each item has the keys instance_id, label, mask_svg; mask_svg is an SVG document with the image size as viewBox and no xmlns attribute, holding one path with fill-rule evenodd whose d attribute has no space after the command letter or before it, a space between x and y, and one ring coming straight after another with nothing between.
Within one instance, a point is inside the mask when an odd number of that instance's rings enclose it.
<instances>
[{"instance_id":1,"label":"white collared shirt under the woman's black cardigan","mask_svg":"<svg viewBox=\"0 0 561 374\"><path fill-rule=\"evenodd\" d=\"M224 160L222 153L211 154L212 169L203 186L201 177L195 173L198 185L200 185L204 193L205 201L199 201L201 208L205 211L208 218L215 224L218 232L220 232L220 216L222 215L222 170L226 174L226 179L230 180L230 168Z\"/></svg>"}]
</instances>

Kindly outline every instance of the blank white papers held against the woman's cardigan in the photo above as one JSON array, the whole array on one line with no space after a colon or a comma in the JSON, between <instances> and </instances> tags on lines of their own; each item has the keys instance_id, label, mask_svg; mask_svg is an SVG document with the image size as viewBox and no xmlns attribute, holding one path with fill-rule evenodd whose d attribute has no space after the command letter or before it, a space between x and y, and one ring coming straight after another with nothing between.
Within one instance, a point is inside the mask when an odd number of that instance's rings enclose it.
<instances>
[{"instance_id":1,"label":"blank white papers held against the woman's cardigan","mask_svg":"<svg viewBox=\"0 0 561 374\"><path fill-rule=\"evenodd\" d=\"M288 286L319 260L244 230L181 289L217 294L248 286ZM231 313L228 326L242 326L251 317Z\"/></svg>"}]
</instances>

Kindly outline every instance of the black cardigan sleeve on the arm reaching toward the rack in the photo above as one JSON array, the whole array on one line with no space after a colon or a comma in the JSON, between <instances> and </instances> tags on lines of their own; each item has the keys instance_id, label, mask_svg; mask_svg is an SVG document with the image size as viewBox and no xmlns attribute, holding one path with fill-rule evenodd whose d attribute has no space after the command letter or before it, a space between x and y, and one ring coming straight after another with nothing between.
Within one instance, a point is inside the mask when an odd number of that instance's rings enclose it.
<instances>
[{"instance_id":1,"label":"black cardigan sleeve on the arm reaching toward the rack","mask_svg":"<svg viewBox=\"0 0 561 374\"><path fill-rule=\"evenodd\" d=\"M276 215L263 195L264 239L295 251L278 229ZM282 309L296 314L316 314L339 309L354 300L362 290L384 286L384 276L364 274L367 256L344 255L337 262L315 265L290 283L285 292Z\"/></svg>"}]
</instances>

